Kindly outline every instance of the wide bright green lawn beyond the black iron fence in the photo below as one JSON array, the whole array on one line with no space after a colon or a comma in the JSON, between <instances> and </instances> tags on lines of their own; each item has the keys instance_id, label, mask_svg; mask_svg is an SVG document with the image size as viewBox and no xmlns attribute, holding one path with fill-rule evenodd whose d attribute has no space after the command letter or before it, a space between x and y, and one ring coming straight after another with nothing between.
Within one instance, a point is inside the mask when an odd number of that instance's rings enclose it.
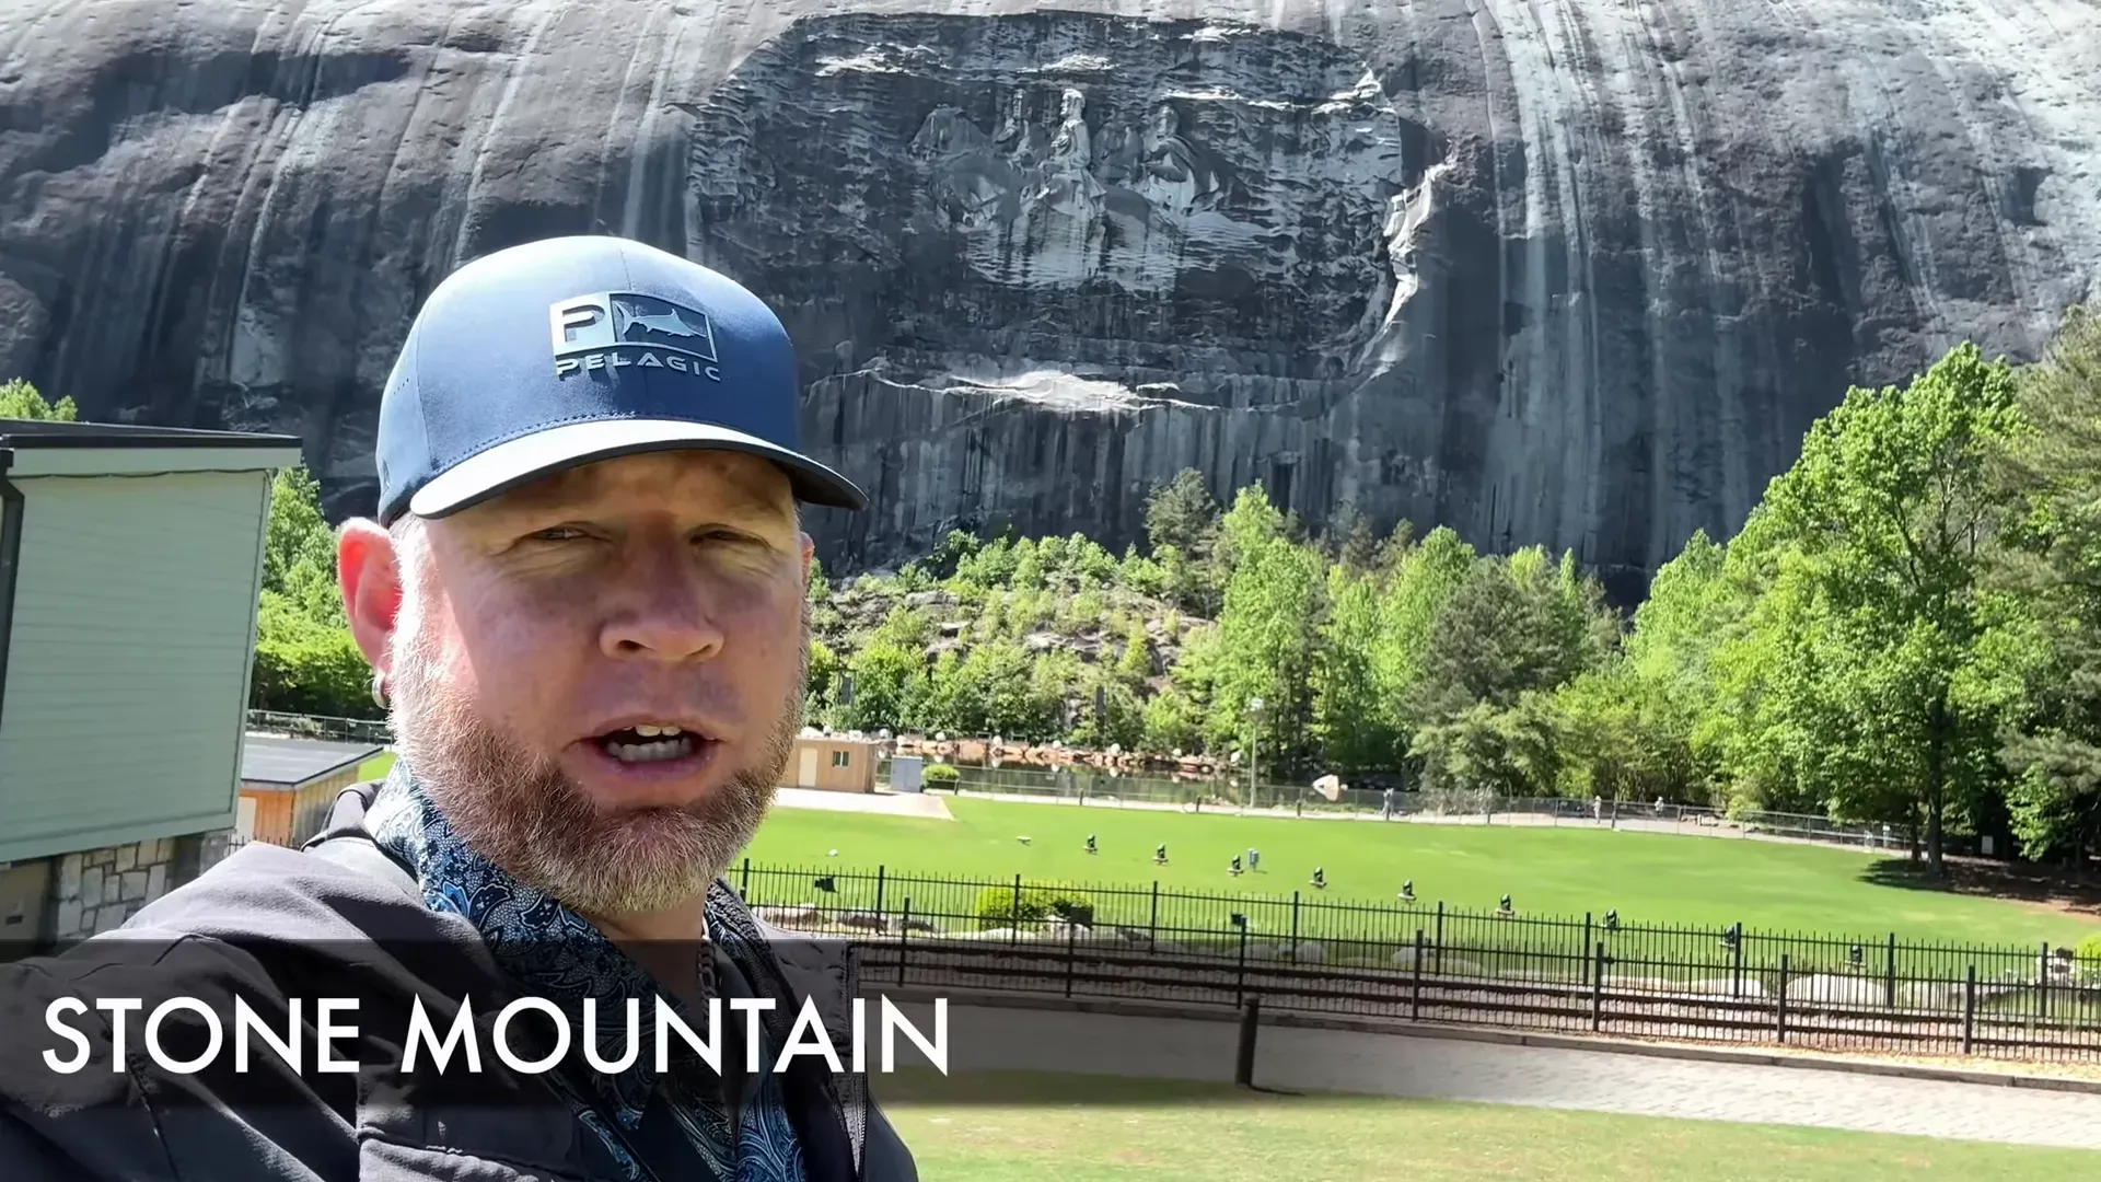
<instances>
[{"instance_id":1,"label":"wide bright green lawn beyond the black iron fence","mask_svg":"<svg viewBox=\"0 0 2101 1182\"><path fill-rule=\"evenodd\" d=\"M956 820L777 808L748 854L756 864L1069 879L1288 898L1326 867L1322 900L1393 902L1403 879L1418 900L1490 911L1509 892L1519 915L1603 917L1801 934L2076 944L2095 923L2021 902L1882 885L1874 854L1824 845L1544 827L1294 820L962 797ZM1084 852L1099 835L1099 854ZM1027 845L1017 837L1027 835ZM1168 843L1166 867L1153 845ZM1227 860L1254 845L1263 871L1237 879ZM830 850L838 850L832 858ZM807 879L798 879L807 888ZM897 894L889 896L891 909Z\"/></svg>"}]
</instances>

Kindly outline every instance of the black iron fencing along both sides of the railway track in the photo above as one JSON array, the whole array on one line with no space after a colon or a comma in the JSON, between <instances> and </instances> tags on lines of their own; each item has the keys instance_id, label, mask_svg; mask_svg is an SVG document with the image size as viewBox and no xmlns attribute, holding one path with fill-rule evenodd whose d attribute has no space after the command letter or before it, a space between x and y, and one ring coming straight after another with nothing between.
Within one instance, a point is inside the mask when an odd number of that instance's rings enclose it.
<instances>
[{"instance_id":1,"label":"black iron fencing along both sides of the railway track","mask_svg":"<svg viewBox=\"0 0 2101 1182\"><path fill-rule=\"evenodd\" d=\"M2101 959L2048 944L761 867L769 921L859 944L872 984L1521 1026L1826 1052L2101 1058Z\"/></svg>"}]
</instances>

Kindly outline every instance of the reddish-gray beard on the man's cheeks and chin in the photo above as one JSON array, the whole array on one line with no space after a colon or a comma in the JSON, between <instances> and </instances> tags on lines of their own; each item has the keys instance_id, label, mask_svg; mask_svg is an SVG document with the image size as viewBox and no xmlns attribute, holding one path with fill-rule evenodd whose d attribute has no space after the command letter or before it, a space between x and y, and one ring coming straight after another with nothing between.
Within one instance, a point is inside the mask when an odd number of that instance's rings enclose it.
<instances>
[{"instance_id":1,"label":"reddish-gray beard on the man's cheeks and chin","mask_svg":"<svg viewBox=\"0 0 2101 1182\"><path fill-rule=\"evenodd\" d=\"M460 837L521 883L584 915L666 911L700 898L765 820L803 730L807 637L805 610L803 677L758 759L685 808L601 812L561 763L498 732L445 684L422 635L395 644L395 751Z\"/></svg>"}]
</instances>

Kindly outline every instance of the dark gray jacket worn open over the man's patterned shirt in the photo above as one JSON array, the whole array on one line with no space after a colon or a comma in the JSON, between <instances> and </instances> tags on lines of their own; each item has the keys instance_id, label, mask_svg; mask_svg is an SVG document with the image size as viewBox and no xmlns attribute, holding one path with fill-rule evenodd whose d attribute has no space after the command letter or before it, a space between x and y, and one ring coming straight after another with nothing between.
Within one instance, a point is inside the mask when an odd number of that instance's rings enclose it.
<instances>
[{"instance_id":1,"label":"dark gray jacket worn open over the man's patterned shirt","mask_svg":"<svg viewBox=\"0 0 2101 1182\"><path fill-rule=\"evenodd\" d=\"M387 1073L321 1075L309 1062L298 1075L263 1043L254 1043L250 1073L231 1071L229 1045L212 1066L174 1075L141 1052L143 1014L132 1014L124 1071L109 1071L103 1064L111 1062L111 1031L107 1014L95 1010L69 1018L92 1043L90 1066L61 1075L44 1064L46 1047L71 1049L44 1024L57 997L86 997L90 1005L95 997L143 997L145 1012L155 999L197 997L227 1016L237 993L271 1028L284 1031L284 999L355 993L359 1018L382 1020L338 1039L336 1047L363 1062L399 1062L399 1047L384 1039L403 1031L405 1020L387 1022L389 1005L401 1018L422 997L437 1031L450 1028L443 999L485 997L500 974L464 919L422 906L403 890L405 871L397 871L401 881L389 881L393 862L355 839L361 803L345 793L349 820L338 806L332 829L338 839L317 852L248 845L109 936L63 955L0 965L0 1176L8 1182L616 1176L592 1157L603 1146L580 1129L546 1077L513 1073L487 1054L485 1071L458 1085L462 1092L448 1092L456 1087L450 1073L443 1081L403 1081ZM853 976L838 946L828 951L758 928L779 940L777 963L796 993L819 997L826 1014L847 1012ZM477 1005L477 1016L487 1028L487 1010ZM305 1020L313 1022L313 1014ZM204 1037L202 1026L170 1022L160 1045L193 1054L172 1047L193 1039L193 1049L202 1049ZM805 1064L811 1071L798 1071ZM786 1087L809 1180L916 1182L912 1155L868 1098L866 1077L821 1071L800 1058Z\"/></svg>"}]
</instances>

